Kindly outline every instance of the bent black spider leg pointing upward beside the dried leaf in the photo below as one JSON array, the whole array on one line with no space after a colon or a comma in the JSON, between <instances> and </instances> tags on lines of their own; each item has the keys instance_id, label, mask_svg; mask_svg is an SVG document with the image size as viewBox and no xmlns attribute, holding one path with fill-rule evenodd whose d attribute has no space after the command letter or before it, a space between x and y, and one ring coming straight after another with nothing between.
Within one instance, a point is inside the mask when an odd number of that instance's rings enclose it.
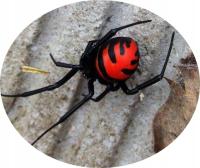
<instances>
[{"instance_id":1,"label":"bent black spider leg pointing upward beside the dried leaf","mask_svg":"<svg viewBox=\"0 0 200 168\"><path fill-rule=\"evenodd\" d=\"M125 82L121 83L121 89L128 95L132 95L132 94L136 94L139 90L142 90L148 86L151 86L157 82L159 82L160 80L162 80L163 76L164 76L164 73L165 73L165 69L167 67L167 63L168 63L168 60L169 60L169 56L170 56L170 53L171 53L171 50L172 50L172 46L173 46L173 40L174 40L174 35L175 35L175 32L172 33L172 36L171 36L171 42L170 42L170 46L169 46L169 50L168 50L168 53L167 53L167 57L165 59L165 63L163 65L163 68L162 68L162 71L159 75L155 76L154 78L140 84L140 85L137 85L134 89L129 89L127 87L127 85L125 84Z\"/></svg>"}]
</instances>

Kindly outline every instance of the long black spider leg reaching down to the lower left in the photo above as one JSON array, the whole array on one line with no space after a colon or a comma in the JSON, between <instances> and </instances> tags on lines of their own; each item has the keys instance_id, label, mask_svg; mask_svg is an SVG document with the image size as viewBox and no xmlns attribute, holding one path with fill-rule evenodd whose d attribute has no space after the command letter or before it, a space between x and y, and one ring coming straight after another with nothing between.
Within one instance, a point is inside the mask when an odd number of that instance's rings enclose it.
<instances>
[{"instance_id":1,"label":"long black spider leg reaching down to the lower left","mask_svg":"<svg viewBox=\"0 0 200 168\"><path fill-rule=\"evenodd\" d=\"M88 91L89 93L87 96L85 96L80 102L75 104L68 112L66 112L55 124L53 124L51 127L49 127L46 131L44 131L37 139L35 139L32 142L32 145L34 145L39 139L41 139L47 132L49 132L51 129L55 128L57 125L64 122L66 119L68 119L79 107L81 107L83 104L85 104L90 98L94 95L94 80L90 79L88 81Z\"/></svg>"}]
</instances>

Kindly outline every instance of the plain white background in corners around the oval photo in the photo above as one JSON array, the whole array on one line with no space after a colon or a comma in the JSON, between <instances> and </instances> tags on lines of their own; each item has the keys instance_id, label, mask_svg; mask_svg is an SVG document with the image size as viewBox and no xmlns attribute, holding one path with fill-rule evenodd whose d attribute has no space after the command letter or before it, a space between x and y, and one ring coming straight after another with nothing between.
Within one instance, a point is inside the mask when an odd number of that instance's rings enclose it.
<instances>
[{"instance_id":1,"label":"plain white background in corners around the oval photo","mask_svg":"<svg viewBox=\"0 0 200 168\"><path fill-rule=\"evenodd\" d=\"M122 1L122 0L121 0ZM172 24L186 39L200 66L199 0L123 0L159 15ZM0 2L0 68L12 42L32 21L74 0L5 0ZM160 153L126 167L198 168L200 167L200 103L183 133ZM0 167L66 168L29 145L14 129L0 101Z\"/></svg>"}]
</instances>

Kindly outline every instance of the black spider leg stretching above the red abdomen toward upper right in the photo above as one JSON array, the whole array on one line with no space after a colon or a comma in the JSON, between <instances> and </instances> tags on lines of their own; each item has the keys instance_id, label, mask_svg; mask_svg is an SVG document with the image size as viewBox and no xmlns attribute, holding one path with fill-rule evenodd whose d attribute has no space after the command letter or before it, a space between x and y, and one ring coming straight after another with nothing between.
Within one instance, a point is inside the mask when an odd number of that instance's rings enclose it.
<instances>
[{"instance_id":1,"label":"black spider leg stretching above the red abdomen toward upper right","mask_svg":"<svg viewBox=\"0 0 200 168\"><path fill-rule=\"evenodd\" d=\"M148 22L151 22L151 20L138 21L138 22L131 23L131 24L128 24L128 25L125 25L125 26L121 26L121 27L118 27L118 28L115 28L115 29L111 29L111 30L110 30L108 33L106 33L100 40L98 40L98 42L96 43L96 45L94 46L94 48L97 48L97 47L99 47L100 45L102 45L103 43L105 43L107 40L109 40L109 39L110 39L111 37L113 37L118 31L120 31L120 30L122 30L122 29L131 27L131 26L135 26L135 25L138 25L138 24L148 23Z\"/></svg>"}]
</instances>

